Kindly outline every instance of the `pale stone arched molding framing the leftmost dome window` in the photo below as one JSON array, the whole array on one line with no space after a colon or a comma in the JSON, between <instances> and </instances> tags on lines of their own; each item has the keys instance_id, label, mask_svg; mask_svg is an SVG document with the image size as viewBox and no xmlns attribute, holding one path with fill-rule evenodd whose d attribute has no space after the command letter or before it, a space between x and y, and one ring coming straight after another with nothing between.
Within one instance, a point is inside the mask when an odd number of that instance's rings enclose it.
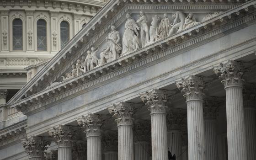
<instances>
[{"instance_id":1,"label":"pale stone arched molding framing the leftmost dome window","mask_svg":"<svg viewBox=\"0 0 256 160\"><path fill-rule=\"evenodd\" d=\"M20 19L22 21L22 50L14 50L13 48L13 21L15 19ZM26 20L20 14L14 14L10 18L10 34L9 34L9 44L10 44L10 51L26 51Z\"/></svg>"}]
</instances>

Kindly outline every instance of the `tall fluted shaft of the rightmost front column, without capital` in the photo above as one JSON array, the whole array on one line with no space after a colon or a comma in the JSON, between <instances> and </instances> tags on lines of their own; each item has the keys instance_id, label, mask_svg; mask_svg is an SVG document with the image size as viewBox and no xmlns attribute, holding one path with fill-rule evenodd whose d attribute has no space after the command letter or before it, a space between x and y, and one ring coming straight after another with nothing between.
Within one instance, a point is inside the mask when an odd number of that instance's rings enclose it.
<instances>
[{"instance_id":1,"label":"tall fluted shaft of the rightmost front column, without capital","mask_svg":"<svg viewBox=\"0 0 256 160\"><path fill-rule=\"evenodd\" d=\"M248 160L242 89L239 86L225 87L228 155L231 160Z\"/></svg>"}]
</instances>

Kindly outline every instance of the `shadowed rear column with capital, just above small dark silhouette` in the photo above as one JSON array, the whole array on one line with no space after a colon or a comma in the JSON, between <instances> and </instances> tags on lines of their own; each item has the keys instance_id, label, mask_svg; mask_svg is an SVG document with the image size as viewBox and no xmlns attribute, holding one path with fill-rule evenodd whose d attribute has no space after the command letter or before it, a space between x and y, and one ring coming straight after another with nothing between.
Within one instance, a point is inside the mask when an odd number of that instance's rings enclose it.
<instances>
[{"instance_id":1,"label":"shadowed rear column with capital, just above small dark silhouette","mask_svg":"<svg viewBox=\"0 0 256 160\"><path fill-rule=\"evenodd\" d=\"M181 110L170 109L167 114L167 139L168 148L176 160L182 160L182 122L184 113Z\"/></svg>"}]
</instances>

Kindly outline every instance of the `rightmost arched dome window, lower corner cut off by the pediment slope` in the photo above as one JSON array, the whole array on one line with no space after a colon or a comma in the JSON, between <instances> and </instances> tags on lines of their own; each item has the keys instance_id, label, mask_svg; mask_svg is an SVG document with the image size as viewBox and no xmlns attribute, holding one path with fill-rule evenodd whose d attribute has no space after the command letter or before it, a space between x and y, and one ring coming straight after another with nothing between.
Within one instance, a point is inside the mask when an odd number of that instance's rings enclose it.
<instances>
[{"instance_id":1,"label":"rightmost arched dome window, lower corner cut off by the pediment slope","mask_svg":"<svg viewBox=\"0 0 256 160\"><path fill-rule=\"evenodd\" d=\"M69 42L69 23L62 21L60 23L60 47L62 48Z\"/></svg>"}]
</instances>

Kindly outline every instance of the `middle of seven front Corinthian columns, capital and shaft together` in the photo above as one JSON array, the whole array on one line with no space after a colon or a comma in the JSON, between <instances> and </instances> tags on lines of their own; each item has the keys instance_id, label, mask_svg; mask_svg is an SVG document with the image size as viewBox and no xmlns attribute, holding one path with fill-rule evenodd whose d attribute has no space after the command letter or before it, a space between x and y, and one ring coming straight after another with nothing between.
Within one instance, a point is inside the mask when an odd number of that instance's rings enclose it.
<instances>
[{"instance_id":1,"label":"middle of seven front Corinthian columns, capital and shaft together","mask_svg":"<svg viewBox=\"0 0 256 160\"><path fill-rule=\"evenodd\" d=\"M134 160L133 155L133 104L119 102L108 107L116 118L118 128L118 160Z\"/></svg>"}]
</instances>

